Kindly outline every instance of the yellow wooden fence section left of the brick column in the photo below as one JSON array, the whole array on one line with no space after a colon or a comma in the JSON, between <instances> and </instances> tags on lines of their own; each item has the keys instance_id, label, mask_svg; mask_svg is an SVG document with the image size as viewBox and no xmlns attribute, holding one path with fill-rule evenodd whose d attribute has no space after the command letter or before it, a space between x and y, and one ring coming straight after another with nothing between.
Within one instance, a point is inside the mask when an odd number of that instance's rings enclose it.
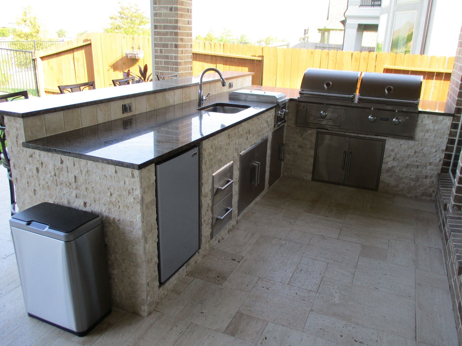
<instances>
[{"instance_id":1,"label":"yellow wooden fence section left of the brick column","mask_svg":"<svg viewBox=\"0 0 462 346\"><path fill-rule=\"evenodd\" d=\"M125 55L132 46L144 51L142 59ZM151 37L91 33L48 49L35 52L41 95L59 93L58 85L95 81L96 88L113 86L112 79L123 78L130 69L148 65L152 72Z\"/></svg>"}]
</instances>

